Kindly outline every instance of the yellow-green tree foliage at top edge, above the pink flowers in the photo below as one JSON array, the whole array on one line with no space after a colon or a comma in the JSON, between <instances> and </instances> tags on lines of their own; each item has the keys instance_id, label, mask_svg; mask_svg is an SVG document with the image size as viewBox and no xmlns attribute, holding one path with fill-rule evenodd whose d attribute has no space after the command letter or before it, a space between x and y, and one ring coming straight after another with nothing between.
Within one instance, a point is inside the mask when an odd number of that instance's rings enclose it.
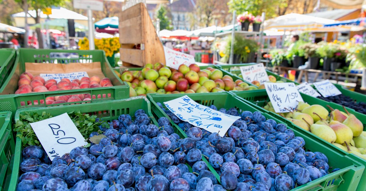
<instances>
[{"instance_id":1,"label":"yellow-green tree foliage at top edge, above the pink flowers","mask_svg":"<svg viewBox=\"0 0 366 191\"><path fill-rule=\"evenodd\" d=\"M305 0L307 1L307 0ZM278 16L278 10L287 7L287 0L230 0L228 2L229 12L236 10L236 14L245 11L255 15L266 13L267 18Z\"/></svg>"}]
</instances>

